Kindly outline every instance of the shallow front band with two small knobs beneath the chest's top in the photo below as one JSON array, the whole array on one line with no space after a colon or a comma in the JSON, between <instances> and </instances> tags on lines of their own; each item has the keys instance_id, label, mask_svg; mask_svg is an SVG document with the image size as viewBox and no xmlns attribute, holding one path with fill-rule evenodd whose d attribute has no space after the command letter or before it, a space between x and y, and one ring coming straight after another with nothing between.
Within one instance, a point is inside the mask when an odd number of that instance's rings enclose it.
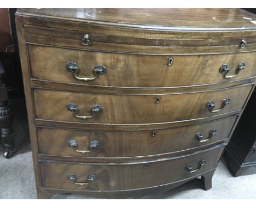
<instances>
[{"instance_id":1,"label":"shallow front band with two small knobs beneath the chest's top","mask_svg":"<svg viewBox=\"0 0 256 208\"><path fill-rule=\"evenodd\" d=\"M27 21L27 20L26 20ZM34 25L37 22L37 26ZM110 52L141 54L202 54L255 51L255 31L236 30L184 32L172 28L143 29L90 24L66 24L28 20L24 25L27 42ZM38 27L39 26L39 27ZM44 26L44 27L40 27ZM57 29L60 28L60 29ZM61 29L62 28L62 29ZM68 29L67 29L68 28ZM170 28L168 28L170 29ZM198 28L196 28L198 29ZM190 31L189 31L190 30ZM241 47L242 46L242 47Z\"/></svg>"}]
</instances>

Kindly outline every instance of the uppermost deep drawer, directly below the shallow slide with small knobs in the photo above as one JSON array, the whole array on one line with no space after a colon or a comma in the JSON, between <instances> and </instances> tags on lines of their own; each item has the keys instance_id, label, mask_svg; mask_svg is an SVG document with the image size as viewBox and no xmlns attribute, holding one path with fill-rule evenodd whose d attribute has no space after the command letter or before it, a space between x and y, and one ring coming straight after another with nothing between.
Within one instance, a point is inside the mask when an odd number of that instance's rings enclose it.
<instances>
[{"instance_id":1,"label":"uppermost deep drawer, directly below the shallow slide with small knobs","mask_svg":"<svg viewBox=\"0 0 256 208\"><path fill-rule=\"evenodd\" d=\"M254 76L256 67L254 52L201 56L143 56L34 45L27 47L32 78L82 85L157 88L212 84ZM69 71L66 69L68 62L73 62L68 65ZM246 64L245 69L238 70L238 74L233 78L223 78L225 73L220 73L219 70L224 64L227 64L230 70L225 76L230 76L236 74L241 63ZM101 74L103 72L104 74ZM75 75L79 78L96 78L83 81L75 78Z\"/></svg>"}]
</instances>

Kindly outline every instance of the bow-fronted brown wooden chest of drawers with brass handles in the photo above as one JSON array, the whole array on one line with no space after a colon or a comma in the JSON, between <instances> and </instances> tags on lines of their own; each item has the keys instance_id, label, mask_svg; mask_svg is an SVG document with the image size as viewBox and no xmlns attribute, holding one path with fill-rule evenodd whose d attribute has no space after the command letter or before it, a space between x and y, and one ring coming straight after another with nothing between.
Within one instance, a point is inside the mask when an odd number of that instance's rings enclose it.
<instances>
[{"instance_id":1,"label":"bow-fronted brown wooden chest of drawers with brass handles","mask_svg":"<svg viewBox=\"0 0 256 208\"><path fill-rule=\"evenodd\" d=\"M214 170L255 85L240 9L19 9L38 198L165 192Z\"/></svg>"}]
</instances>

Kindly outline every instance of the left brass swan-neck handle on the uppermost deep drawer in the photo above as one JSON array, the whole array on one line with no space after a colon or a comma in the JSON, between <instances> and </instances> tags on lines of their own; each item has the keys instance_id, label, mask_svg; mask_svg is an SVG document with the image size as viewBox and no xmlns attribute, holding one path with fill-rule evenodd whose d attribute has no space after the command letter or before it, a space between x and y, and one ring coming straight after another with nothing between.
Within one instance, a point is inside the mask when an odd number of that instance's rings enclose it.
<instances>
[{"instance_id":1,"label":"left brass swan-neck handle on the uppermost deep drawer","mask_svg":"<svg viewBox=\"0 0 256 208\"><path fill-rule=\"evenodd\" d=\"M106 67L103 66L103 65L96 65L95 68L94 68L94 77L79 77L78 76L78 64L76 62L67 62L66 63L66 69L73 73L73 76L78 79L78 80L81 80L81 81L84 81L84 82L88 82L88 81L92 81L94 80L97 75L103 75L105 74L106 72Z\"/></svg>"}]
</instances>

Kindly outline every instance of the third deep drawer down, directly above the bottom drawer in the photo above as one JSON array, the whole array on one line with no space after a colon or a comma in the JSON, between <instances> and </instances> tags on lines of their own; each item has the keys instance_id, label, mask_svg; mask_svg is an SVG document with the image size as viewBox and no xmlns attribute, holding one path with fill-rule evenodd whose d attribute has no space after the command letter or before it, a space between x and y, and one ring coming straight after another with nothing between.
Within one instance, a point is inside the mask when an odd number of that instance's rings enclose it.
<instances>
[{"instance_id":1,"label":"third deep drawer down, directly above the bottom drawer","mask_svg":"<svg viewBox=\"0 0 256 208\"><path fill-rule=\"evenodd\" d=\"M228 138L236 118L237 115L232 115L198 125L155 131L37 127L38 151L44 155L72 157L136 157L190 150Z\"/></svg>"}]
</instances>

